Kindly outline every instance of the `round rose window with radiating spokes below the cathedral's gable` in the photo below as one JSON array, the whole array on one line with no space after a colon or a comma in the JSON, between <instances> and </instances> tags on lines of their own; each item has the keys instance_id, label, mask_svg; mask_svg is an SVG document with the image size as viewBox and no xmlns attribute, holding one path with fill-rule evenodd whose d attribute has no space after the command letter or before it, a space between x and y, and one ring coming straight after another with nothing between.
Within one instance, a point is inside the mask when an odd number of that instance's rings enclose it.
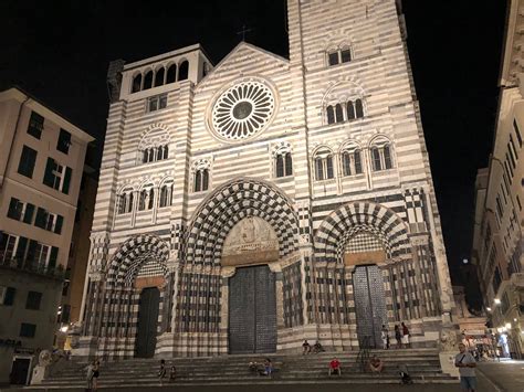
<instances>
[{"instance_id":1,"label":"round rose window with radiating spokes below the cathedral's gable","mask_svg":"<svg viewBox=\"0 0 524 392\"><path fill-rule=\"evenodd\" d=\"M222 138L240 140L260 133L275 108L274 94L258 81L244 81L223 92L213 105L211 119Z\"/></svg>"}]
</instances>

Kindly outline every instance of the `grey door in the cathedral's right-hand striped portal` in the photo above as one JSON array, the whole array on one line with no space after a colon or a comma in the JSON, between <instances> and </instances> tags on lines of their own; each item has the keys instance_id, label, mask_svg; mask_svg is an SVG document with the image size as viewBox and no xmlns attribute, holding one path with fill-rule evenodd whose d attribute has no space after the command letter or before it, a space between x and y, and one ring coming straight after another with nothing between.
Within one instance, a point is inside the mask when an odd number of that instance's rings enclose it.
<instances>
[{"instance_id":1,"label":"grey door in the cathedral's right-hand striped portal","mask_svg":"<svg viewBox=\"0 0 524 392\"><path fill-rule=\"evenodd\" d=\"M353 272L353 292L360 347L381 348L380 330L387 324L382 274L377 265L359 265Z\"/></svg>"}]
</instances>

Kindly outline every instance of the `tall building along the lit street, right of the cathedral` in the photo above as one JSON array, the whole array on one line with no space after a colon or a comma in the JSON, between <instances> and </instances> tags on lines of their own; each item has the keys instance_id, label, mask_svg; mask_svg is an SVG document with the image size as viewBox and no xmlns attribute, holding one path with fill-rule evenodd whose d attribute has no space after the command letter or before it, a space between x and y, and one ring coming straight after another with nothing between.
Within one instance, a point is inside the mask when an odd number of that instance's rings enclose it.
<instances>
[{"instance_id":1,"label":"tall building along the lit street, right of the cathedral","mask_svg":"<svg viewBox=\"0 0 524 392\"><path fill-rule=\"evenodd\" d=\"M505 356L524 350L524 1L511 1L493 151L476 177L472 261Z\"/></svg>"}]
</instances>

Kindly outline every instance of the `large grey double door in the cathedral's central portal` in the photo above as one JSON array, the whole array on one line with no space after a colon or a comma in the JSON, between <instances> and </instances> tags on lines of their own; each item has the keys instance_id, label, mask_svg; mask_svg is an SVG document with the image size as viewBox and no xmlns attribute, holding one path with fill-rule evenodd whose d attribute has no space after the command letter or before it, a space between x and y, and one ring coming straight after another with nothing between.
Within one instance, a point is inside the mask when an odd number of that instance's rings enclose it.
<instances>
[{"instance_id":1,"label":"large grey double door in the cathedral's central portal","mask_svg":"<svg viewBox=\"0 0 524 392\"><path fill-rule=\"evenodd\" d=\"M237 268L229 279L229 352L275 351L275 274L268 265Z\"/></svg>"}]
</instances>

